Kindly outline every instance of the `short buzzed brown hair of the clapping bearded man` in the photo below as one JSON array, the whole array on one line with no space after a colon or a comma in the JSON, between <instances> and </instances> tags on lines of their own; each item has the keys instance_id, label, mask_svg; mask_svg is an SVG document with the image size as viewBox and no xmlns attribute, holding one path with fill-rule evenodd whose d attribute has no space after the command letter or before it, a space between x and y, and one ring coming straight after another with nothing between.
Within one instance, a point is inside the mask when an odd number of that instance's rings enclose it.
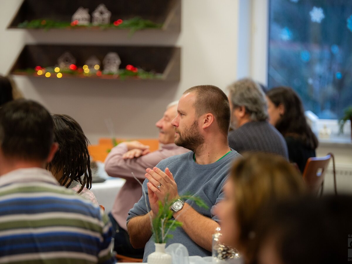
<instances>
[{"instance_id":1,"label":"short buzzed brown hair of the clapping bearded man","mask_svg":"<svg viewBox=\"0 0 352 264\"><path fill-rule=\"evenodd\" d=\"M218 123L220 131L227 136L230 127L230 104L226 94L214 85L199 85L186 90L183 94L195 93L193 105L197 117L212 113Z\"/></svg>"}]
</instances>

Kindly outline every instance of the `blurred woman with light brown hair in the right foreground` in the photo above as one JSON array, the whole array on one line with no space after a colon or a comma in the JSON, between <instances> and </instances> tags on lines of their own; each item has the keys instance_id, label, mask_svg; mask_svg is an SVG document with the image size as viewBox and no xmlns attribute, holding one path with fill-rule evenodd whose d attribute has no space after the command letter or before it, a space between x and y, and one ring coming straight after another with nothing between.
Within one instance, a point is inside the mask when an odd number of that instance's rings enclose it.
<instances>
[{"instance_id":1,"label":"blurred woman with light brown hair in the right foreground","mask_svg":"<svg viewBox=\"0 0 352 264\"><path fill-rule=\"evenodd\" d=\"M233 164L224 186L225 199L216 208L221 220L222 243L235 247L245 263L255 255L254 227L260 209L277 201L300 196L302 176L284 158L268 153L248 153Z\"/></svg>"}]
</instances>

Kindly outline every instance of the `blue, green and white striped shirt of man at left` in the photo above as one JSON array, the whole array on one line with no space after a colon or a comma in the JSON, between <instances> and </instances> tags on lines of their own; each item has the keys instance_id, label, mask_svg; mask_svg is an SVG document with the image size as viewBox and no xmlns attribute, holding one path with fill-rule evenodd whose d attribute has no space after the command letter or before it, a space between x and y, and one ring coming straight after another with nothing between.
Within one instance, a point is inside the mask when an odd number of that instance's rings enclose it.
<instances>
[{"instance_id":1,"label":"blue, green and white striped shirt of man at left","mask_svg":"<svg viewBox=\"0 0 352 264\"><path fill-rule=\"evenodd\" d=\"M0 263L115 263L111 223L49 171L0 176Z\"/></svg>"}]
</instances>

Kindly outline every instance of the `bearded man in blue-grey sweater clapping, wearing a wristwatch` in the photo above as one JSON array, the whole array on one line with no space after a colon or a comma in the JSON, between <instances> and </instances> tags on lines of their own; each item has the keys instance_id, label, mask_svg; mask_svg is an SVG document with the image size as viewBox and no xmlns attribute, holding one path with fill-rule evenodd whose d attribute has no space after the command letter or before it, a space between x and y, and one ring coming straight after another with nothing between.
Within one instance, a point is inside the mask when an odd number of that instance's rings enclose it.
<instances>
[{"instance_id":1,"label":"bearded man in blue-grey sweater clapping, wearing a wristwatch","mask_svg":"<svg viewBox=\"0 0 352 264\"><path fill-rule=\"evenodd\" d=\"M150 218L157 216L159 202L164 203L165 198L173 201L172 215L182 223L182 227L170 231L173 238L166 245L181 243L190 256L211 255L212 234L219 227L214 208L224 198L222 187L232 161L240 156L228 146L229 124L229 102L218 87L195 86L182 95L172 125L176 132L175 144L190 151L147 168L143 194L151 210L142 197L128 213L131 244L144 247L144 262L155 250ZM181 200L186 194L200 197L208 208L199 207L191 200Z\"/></svg>"}]
</instances>

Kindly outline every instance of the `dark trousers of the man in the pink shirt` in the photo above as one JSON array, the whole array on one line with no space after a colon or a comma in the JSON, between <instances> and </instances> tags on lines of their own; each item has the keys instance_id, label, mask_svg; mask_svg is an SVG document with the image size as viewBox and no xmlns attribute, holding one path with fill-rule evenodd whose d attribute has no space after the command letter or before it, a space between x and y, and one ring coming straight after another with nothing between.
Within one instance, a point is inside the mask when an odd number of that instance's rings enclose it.
<instances>
[{"instance_id":1,"label":"dark trousers of the man in the pink shirt","mask_svg":"<svg viewBox=\"0 0 352 264\"><path fill-rule=\"evenodd\" d=\"M130 236L127 231L124 230L116 222L111 213L109 218L113 227L113 237L115 238L114 250L120 254L131 258L143 258L144 249L134 249L130 243Z\"/></svg>"}]
</instances>

